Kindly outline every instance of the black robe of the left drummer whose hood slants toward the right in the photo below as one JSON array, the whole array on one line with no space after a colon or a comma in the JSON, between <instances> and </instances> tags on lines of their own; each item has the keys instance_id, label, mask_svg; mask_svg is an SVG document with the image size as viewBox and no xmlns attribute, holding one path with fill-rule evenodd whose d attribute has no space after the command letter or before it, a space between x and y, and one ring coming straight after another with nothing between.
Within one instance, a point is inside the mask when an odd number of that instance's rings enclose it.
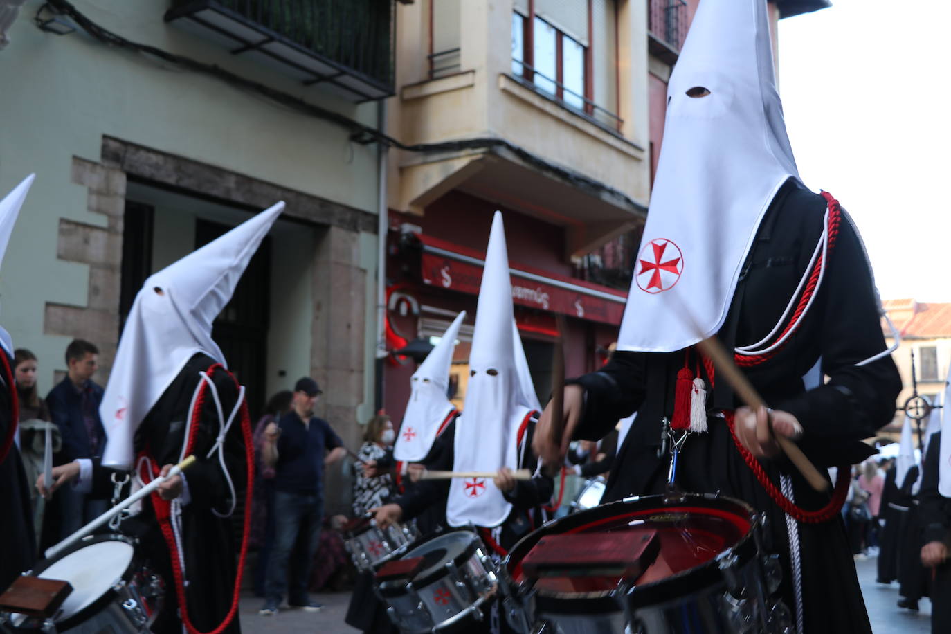
<instances>
[{"instance_id":1,"label":"black robe of the left drummer whose hood slants toward the right","mask_svg":"<svg viewBox=\"0 0 951 634\"><path fill-rule=\"evenodd\" d=\"M199 384L199 372L207 372L215 363L217 361L204 354L194 355L188 360L139 426L135 436L137 454L146 451L160 468L179 461L185 441L185 418L192 395ZM211 378L218 389L224 416L227 418L238 402L237 384L233 375L221 367L215 369ZM212 510L227 512L231 506L231 493L219 463L218 453L211 458L205 457L214 444L220 427L215 402L207 388L205 393L193 451L198 461L184 472L191 502L184 506L182 512L188 616L200 631L210 631L221 624L231 606L241 546L244 493L248 480L242 419L239 413L224 441L224 461L234 482L238 502L232 517L217 517ZM95 494L105 496L111 493L109 472L96 466L93 475ZM178 634L182 631L182 622L178 616L171 554L155 518L151 497L146 500L143 512L123 522L121 530L140 539L149 566L165 580L165 607L152 625L152 631L156 634ZM241 631L237 611L233 621L224 631L232 634Z\"/></svg>"}]
</instances>

